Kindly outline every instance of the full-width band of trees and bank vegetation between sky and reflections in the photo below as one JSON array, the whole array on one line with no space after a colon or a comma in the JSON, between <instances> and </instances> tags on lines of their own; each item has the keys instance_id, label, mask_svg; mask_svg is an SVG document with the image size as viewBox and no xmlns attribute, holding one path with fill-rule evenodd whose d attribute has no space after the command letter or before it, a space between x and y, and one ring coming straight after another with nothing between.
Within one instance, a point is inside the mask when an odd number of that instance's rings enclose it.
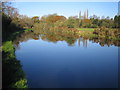
<instances>
[{"instance_id":1,"label":"full-width band of trees and bank vegetation between sky and reflections","mask_svg":"<svg viewBox=\"0 0 120 90\"><path fill-rule=\"evenodd\" d=\"M8 4L7 4L8 5ZM36 34L58 33L58 35L76 35L79 37L104 37L119 40L120 15L114 18L98 17L96 15L89 18L70 16L66 18L62 15L49 14L42 16L27 17L20 15L16 8L3 3L2 23L3 42L7 37L11 37L14 32L18 33L25 29L32 30ZM18 33L19 34L19 33ZM17 35L17 34L16 34ZM9 38L10 39L10 38Z\"/></svg>"}]
</instances>

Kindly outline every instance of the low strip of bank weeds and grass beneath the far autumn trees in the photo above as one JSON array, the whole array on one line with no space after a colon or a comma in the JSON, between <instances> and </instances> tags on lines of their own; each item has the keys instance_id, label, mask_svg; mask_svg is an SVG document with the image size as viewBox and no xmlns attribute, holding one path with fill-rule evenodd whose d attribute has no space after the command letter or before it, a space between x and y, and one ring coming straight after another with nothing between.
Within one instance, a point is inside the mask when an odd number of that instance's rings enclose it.
<instances>
[{"instance_id":1,"label":"low strip of bank weeds and grass beneath the far autumn trees","mask_svg":"<svg viewBox=\"0 0 120 90\"><path fill-rule=\"evenodd\" d=\"M36 34L56 34L57 36L66 37L84 37L84 38L106 38L111 40L120 40L120 30L119 28L68 28L59 26L41 26L40 24L35 24L32 28L33 32Z\"/></svg>"}]
</instances>

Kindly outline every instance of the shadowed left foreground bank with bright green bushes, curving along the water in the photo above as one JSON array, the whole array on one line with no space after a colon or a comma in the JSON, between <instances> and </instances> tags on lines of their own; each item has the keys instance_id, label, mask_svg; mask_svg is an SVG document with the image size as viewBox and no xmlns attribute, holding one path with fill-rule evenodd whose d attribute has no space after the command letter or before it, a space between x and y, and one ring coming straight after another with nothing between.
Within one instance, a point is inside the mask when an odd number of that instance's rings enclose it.
<instances>
[{"instance_id":1,"label":"shadowed left foreground bank with bright green bushes, curving along the water","mask_svg":"<svg viewBox=\"0 0 120 90\"><path fill-rule=\"evenodd\" d=\"M27 80L20 61L15 57L15 48L12 42L17 35L27 31L31 31L31 29L14 32L7 41L2 43L3 88L27 88Z\"/></svg>"}]
</instances>

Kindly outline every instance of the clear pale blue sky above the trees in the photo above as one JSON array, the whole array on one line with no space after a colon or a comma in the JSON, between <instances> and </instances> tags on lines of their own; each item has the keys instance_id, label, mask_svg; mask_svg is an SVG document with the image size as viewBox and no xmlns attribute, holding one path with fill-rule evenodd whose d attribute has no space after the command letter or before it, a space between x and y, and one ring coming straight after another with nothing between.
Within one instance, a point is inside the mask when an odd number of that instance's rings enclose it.
<instances>
[{"instance_id":1,"label":"clear pale blue sky above the trees","mask_svg":"<svg viewBox=\"0 0 120 90\"><path fill-rule=\"evenodd\" d=\"M18 8L20 14L32 16L43 16L57 13L58 15L78 16L88 9L89 16L114 17L118 12L117 2L14 2L14 7Z\"/></svg>"}]
</instances>

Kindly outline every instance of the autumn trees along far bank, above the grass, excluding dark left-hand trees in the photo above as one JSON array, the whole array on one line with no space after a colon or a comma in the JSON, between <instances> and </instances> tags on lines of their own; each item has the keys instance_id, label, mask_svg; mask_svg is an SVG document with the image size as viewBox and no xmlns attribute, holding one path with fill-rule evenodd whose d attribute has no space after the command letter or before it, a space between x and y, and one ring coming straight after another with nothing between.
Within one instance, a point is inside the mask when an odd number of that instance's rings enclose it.
<instances>
[{"instance_id":1,"label":"autumn trees along far bank, above the grass, excluding dark left-hand trees","mask_svg":"<svg viewBox=\"0 0 120 90\"><path fill-rule=\"evenodd\" d=\"M98 19L91 17L90 19L79 19L76 16L69 17L68 19L64 16L52 14L43 16L39 20L39 24L44 28L49 27L67 27L67 28L120 28L120 15L114 18ZM36 25L35 25L36 26Z\"/></svg>"}]
</instances>

